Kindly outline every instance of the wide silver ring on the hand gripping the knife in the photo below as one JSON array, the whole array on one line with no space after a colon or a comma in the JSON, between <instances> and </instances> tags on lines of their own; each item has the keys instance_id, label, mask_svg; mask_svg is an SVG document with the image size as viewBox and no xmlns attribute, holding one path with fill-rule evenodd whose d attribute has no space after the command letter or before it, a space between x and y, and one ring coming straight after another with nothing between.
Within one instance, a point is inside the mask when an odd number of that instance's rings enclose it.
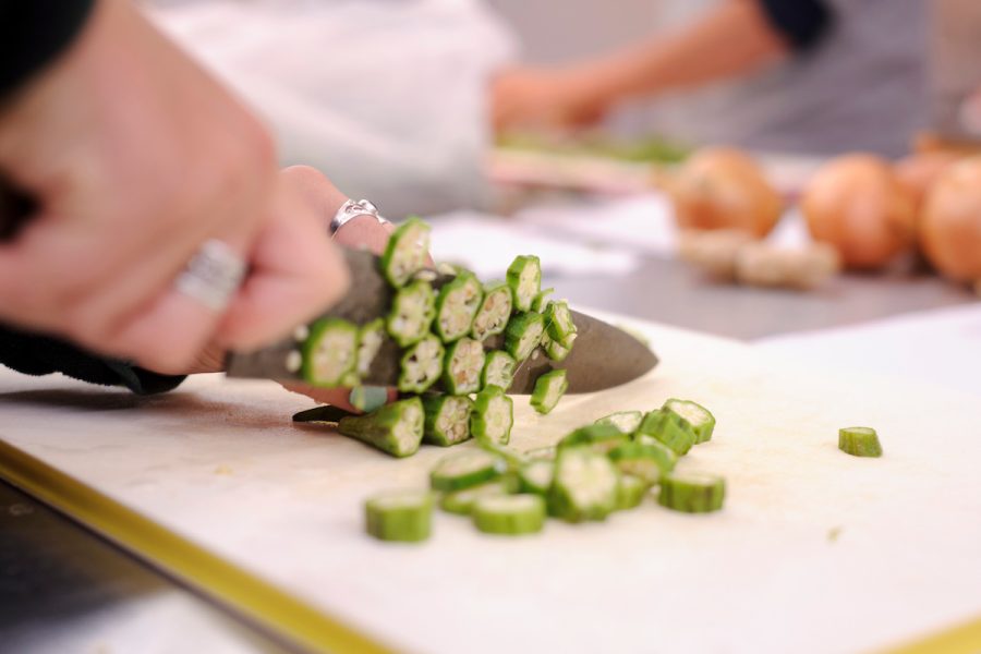
<instances>
[{"instance_id":1,"label":"wide silver ring on the hand gripping the knife","mask_svg":"<svg viewBox=\"0 0 981 654\"><path fill-rule=\"evenodd\" d=\"M211 311L222 312L245 279L246 265L227 243L205 241L174 280L174 289Z\"/></svg>"}]
</instances>

